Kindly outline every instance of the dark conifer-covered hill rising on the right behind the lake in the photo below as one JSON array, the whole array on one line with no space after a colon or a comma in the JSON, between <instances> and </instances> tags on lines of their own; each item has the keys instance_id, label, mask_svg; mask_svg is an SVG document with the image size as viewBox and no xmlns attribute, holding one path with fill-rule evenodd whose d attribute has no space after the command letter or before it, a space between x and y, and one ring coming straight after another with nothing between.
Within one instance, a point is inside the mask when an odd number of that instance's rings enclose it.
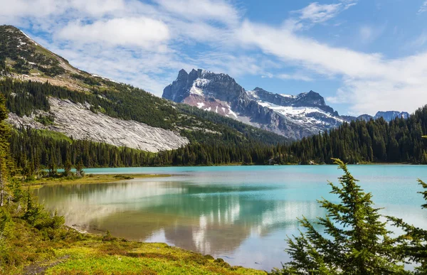
<instances>
[{"instance_id":1,"label":"dark conifer-covered hill rising on the right behind the lake","mask_svg":"<svg viewBox=\"0 0 427 275\"><path fill-rule=\"evenodd\" d=\"M427 106L408 119L356 121L275 148L273 163L427 163Z\"/></svg>"}]
</instances>

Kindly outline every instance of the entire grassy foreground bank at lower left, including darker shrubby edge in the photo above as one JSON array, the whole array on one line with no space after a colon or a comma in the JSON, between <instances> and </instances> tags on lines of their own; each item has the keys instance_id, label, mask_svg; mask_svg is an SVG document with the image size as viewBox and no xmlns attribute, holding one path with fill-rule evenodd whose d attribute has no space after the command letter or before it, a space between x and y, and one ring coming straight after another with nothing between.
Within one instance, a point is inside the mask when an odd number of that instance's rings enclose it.
<instances>
[{"instance_id":1,"label":"entire grassy foreground bank at lower left, including darker shrubby edge","mask_svg":"<svg viewBox=\"0 0 427 275\"><path fill-rule=\"evenodd\" d=\"M14 223L0 274L266 274L167 244L127 242L67 227L51 235L19 219Z\"/></svg>"}]
</instances>

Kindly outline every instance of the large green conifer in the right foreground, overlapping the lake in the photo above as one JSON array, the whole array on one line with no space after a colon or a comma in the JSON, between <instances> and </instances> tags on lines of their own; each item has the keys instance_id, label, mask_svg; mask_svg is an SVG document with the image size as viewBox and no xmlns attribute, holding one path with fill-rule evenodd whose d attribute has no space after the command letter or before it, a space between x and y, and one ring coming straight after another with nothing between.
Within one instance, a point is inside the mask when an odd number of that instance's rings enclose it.
<instances>
[{"instance_id":1,"label":"large green conifer in the right foreground, overlapping the lake","mask_svg":"<svg viewBox=\"0 0 427 275\"><path fill-rule=\"evenodd\" d=\"M341 203L320 200L327 210L326 217L315 224L325 227L322 235L303 217L300 220L307 232L288 239L292 261L276 274L404 274L399 257L389 237L386 223L380 221L379 209L374 208L371 193L364 193L347 165L334 159L344 171L340 185L329 183L332 194Z\"/></svg>"}]
</instances>

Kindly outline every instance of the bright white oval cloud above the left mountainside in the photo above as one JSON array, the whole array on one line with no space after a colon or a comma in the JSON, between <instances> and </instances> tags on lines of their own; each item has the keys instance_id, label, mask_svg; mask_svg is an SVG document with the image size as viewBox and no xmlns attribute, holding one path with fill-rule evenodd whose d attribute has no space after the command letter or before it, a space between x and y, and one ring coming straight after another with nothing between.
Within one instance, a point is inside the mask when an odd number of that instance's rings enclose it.
<instances>
[{"instance_id":1,"label":"bright white oval cloud above the left mountainside","mask_svg":"<svg viewBox=\"0 0 427 275\"><path fill-rule=\"evenodd\" d=\"M69 23L58 38L77 43L107 43L109 45L137 45L150 48L169 40L169 28L152 18L113 18L92 24Z\"/></svg>"}]
</instances>

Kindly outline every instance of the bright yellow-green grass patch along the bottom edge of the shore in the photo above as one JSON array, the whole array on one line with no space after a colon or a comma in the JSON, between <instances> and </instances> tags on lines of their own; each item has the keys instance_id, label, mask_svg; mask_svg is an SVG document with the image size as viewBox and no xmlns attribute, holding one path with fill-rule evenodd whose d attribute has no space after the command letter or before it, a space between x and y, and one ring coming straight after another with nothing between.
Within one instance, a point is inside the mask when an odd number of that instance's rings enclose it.
<instances>
[{"instance_id":1,"label":"bright yellow-green grass patch along the bottom edge of the shore","mask_svg":"<svg viewBox=\"0 0 427 275\"><path fill-rule=\"evenodd\" d=\"M117 239L78 244L78 248L58 249L56 256L67 260L48 268L46 274L265 274L167 244Z\"/></svg>"}]
</instances>

